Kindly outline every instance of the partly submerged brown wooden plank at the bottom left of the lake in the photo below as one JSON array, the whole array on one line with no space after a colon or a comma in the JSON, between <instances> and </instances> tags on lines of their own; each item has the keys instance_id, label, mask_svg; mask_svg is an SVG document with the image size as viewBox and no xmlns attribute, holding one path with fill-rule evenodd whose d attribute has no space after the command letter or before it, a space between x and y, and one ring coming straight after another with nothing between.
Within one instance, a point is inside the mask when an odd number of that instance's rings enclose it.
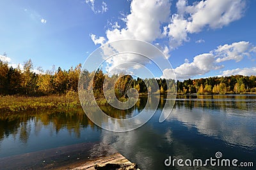
<instances>
[{"instance_id":1,"label":"partly submerged brown wooden plank at the bottom left of the lake","mask_svg":"<svg viewBox=\"0 0 256 170\"><path fill-rule=\"evenodd\" d=\"M0 169L6 170L100 169L106 165L136 167L115 149L102 143L79 143L0 159Z\"/></svg>"}]
</instances>

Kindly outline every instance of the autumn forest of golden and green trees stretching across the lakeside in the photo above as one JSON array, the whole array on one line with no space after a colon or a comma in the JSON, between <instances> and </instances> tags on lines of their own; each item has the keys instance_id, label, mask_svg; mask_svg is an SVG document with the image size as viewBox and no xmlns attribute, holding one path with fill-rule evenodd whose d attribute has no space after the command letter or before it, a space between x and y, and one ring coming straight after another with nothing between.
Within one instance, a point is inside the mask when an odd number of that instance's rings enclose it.
<instances>
[{"instance_id":1,"label":"autumn forest of golden and green trees stretching across the lakeside","mask_svg":"<svg viewBox=\"0 0 256 170\"><path fill-rule=\"evenodd\" d=\"M24 62L23 69L20 69L19 66L13 68L7 62L0 60L0 96L76 94L81 69L81 64L78 64L68 70L58 67L53 71L35 73L31 59ZM92 77L94 74L95 76ZM118 77L117 75L113 76ZM100 69L92 73L85 70L83 71L83 78L88 79L86 82L90 85L86 88L93 89L95 98L102 98L103 81L109 79L108 74L103 73ZM167 90L175 92L176 89L177 94L256 94L256 76L215 76L195 80L177 80L176 83L174 80L157 79L159 88L152 85L154 81L153 78L142 80L141 78L124 75L115 84L111 85L115 87L115 94L119 98L127 97L127 89L131 87L138 90L140 94L154 94L157 91L166 94Z\"/></svg>"}]
</instances>

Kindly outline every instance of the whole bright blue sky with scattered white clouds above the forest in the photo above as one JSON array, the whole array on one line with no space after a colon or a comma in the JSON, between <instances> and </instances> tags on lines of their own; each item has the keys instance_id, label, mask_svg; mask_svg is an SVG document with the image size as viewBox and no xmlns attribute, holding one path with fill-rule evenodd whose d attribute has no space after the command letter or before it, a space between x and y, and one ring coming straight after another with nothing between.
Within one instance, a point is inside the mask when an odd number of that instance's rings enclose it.
<instances>
[{"instance_id":1,"label":"whole bright blue sky with scattered white clouds above the forest","mask_svg":"<svg viewBox=\"0 0 256 170\"><path fill-rule=\"evenodd\" d=\"M0 6L0 54L12 66L31 59L34 69L69 69L104 43L132 38L159 47L179 79L256 74L253 0L0 0Z\"/></svg>"}]
</instances>

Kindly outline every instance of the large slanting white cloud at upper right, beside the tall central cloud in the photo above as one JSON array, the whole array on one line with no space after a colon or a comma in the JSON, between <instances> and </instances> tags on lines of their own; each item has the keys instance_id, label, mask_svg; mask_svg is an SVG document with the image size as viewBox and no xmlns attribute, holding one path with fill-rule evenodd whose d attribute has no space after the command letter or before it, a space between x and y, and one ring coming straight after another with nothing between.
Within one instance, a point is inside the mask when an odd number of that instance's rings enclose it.
<instances>
[{"instance_id":1,"label":"large slanting white cloud at upper right, beside the tall central cloud","mask_svg":"<svg viewBox=\"0 0 256 170\"><path fill-rule=\"evenodd\" d=\"M170 38L170 49L175 49L185 41L188 34L202 31L205 27L218 29L243 17L245 1L243 0L206 0L188 5L187 0L176 3L177 13L172 15L168 31L163 35Z\"/></svg>"}]
</instances>

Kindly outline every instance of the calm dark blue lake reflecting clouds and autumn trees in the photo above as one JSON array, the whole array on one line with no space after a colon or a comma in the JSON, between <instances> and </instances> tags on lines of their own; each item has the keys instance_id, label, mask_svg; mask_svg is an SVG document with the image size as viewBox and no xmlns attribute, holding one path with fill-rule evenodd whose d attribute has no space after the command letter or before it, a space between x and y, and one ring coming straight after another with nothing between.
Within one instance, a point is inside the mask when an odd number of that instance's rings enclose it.
<instances>
[{"instance_id":1,"label":"calm dark blue lake reflecting clouds and autumn trees","mask_svg":"<svg viewBox=\"0 0 256 170\"><path fill-rule=\"evenodd\" d=\"M154 96L151 98L154 103ZM92 148L94 152L102 152L109 146L141 169L198 169L177 164L167 167L164 160L170 156L206 160L216 158L216 152L221 152L223 159L253 162L256 166L256 96L177 96L172 113L162 123L159 117L168 99L161 96L159 101L156 113L147 124L129 132L103 130L88 120L81 108L1 113L0 160L61 146L97 143L97 148ZM138 115L146 102L147 97L140 97L129 110L108 107L104 110L111 117L129 118Z\"/></svg>"}]
</instances>

